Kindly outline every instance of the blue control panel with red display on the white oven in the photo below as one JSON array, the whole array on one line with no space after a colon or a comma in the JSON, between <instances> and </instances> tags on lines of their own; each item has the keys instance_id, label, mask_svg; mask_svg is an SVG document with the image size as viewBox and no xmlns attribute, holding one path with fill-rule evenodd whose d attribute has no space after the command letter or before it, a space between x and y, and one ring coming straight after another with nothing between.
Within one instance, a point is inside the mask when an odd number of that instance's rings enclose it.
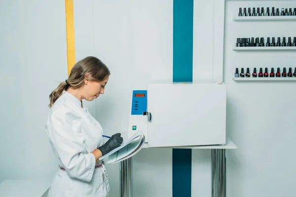
<instances>
[{"instance_id":1,"label":"blue control panel with red display on the white oven","mask_svg":"<svg viewBox=\"0 0 296 197\"><path fill-rule=\"evenodd\" d=\"M143 115L145 111L147 111L147 90L134 90L132 115Z\"/></svg>"}]
</instances>

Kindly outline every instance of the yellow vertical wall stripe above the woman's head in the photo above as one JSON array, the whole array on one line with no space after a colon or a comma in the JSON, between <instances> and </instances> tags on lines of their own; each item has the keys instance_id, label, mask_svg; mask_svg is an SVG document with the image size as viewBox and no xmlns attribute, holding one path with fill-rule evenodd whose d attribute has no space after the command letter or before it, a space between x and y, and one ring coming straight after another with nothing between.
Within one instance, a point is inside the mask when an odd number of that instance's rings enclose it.
<instances>
[{"instance_id":1,"label":"yellow vertical wall stripe above the woman's head","mask_svg":"<svg viewBox=\"0 0 296 197\"><path fill-rule=\"evenodd\" d=\"M67 58L68 76L75 64L75 33L74 33L74 3L73 0L65 0L66 3L66 33L67 33Z\"/></svg>"}]
</instances>

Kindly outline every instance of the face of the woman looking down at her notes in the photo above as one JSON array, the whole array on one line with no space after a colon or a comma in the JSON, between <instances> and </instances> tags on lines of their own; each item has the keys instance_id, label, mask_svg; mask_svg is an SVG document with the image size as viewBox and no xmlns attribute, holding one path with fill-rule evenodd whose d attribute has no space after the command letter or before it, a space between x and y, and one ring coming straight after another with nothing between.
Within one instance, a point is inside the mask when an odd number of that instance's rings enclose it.
<instances>
[{"instance_id":1,"label":"face of the woman looking down at her notes","mask_svg":"<svg viewBox=\"0 0 296 197\"><path fill-rule=\"evenodd\" d=\"M92 101L97 99L100 94L104 94L105 86L109 80L109 76L104 81L85 80L83 99Z\"/></svg>"}]
</instances>

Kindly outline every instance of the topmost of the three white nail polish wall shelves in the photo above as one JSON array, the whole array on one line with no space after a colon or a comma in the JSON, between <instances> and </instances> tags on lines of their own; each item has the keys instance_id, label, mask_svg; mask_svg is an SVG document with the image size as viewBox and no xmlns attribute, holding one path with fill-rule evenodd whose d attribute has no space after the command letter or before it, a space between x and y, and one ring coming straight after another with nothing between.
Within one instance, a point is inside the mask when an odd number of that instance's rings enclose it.
<instances>
[{"instance_id":1,"label":"topmost of the three white nail polish wall shelves","mask_svg":"<svg viewBox=\"0 0 296 197\"><path fill-rule=\"evenodd\" d=\"M296 21L296 16L234 16L233 21Z\"/></svg>"}]
</instances>

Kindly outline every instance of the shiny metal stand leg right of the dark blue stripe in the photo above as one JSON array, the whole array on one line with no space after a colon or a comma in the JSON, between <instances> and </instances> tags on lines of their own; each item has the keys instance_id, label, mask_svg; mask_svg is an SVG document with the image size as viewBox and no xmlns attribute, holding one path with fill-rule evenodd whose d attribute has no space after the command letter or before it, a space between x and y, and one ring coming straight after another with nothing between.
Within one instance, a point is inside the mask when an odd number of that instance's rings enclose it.
<instances>
[{"instance_id":1,"label":"shiny metal stand leg right of the dark blue stripe","mask_svg":"<svg viewBox=\"0 0 296 197\"><path fill-rule=\"evenodd\" d=\"M212 197L226 197L225 153L225 149L212 149Z\"/></svg>"}]
</instances>

